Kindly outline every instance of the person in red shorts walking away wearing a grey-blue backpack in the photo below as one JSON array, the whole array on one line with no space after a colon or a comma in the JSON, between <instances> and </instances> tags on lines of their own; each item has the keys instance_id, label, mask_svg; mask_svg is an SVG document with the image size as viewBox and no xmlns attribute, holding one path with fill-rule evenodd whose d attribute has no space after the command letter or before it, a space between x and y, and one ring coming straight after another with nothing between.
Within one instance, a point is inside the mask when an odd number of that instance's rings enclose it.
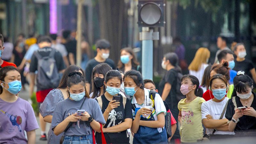
<instances>
[{"instance_id":1,"label":"person in red shorts walking away wearing a grey-blue backpack","mask_svg":"<svg viewBox=\"0 0 256 144\"><path fill-rule=\"evenodd\" d=\"M30 97L33 95L35 78L36 78L36 100L38 108L40 108L46 95L59 84L59 73L65 70L65 64L62 55L55 49L51 48L51 38L49 36L41 36L38 39L39 49L34 52L31 58L30 71ZM35 72L38 71L37 75ZM40 140L47 140L45 133L44 119L39 114L41 137Z\"/></svg>"}]
</instances>

